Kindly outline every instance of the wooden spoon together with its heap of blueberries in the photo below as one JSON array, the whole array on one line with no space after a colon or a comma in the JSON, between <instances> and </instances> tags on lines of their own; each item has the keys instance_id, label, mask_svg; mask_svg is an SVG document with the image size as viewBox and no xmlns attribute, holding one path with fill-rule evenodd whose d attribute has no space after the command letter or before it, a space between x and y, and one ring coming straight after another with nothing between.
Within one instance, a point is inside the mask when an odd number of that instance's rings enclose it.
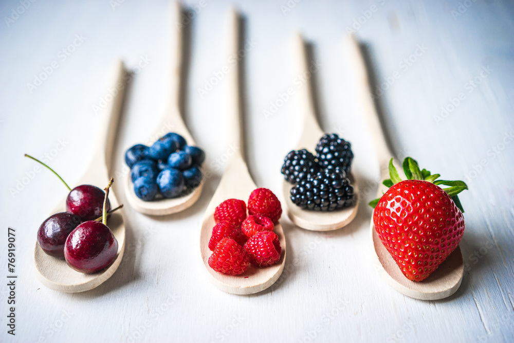
<instances>
[{"instance_id":1,"label":"wooden spoon together with its heap of blueberries","mask_svg":"<svg viewBox=\"0 0 514 343\"><path fill-rule=\"evenodd\" d=\"M201 166L205 153L195 147L180 114L183 29L177 23L181 23L182 8L179 2L172 4L170 105L150 136L152 145L136 144L125 154L125 163L131 168L125 179L128 203L136 211L150 215L172 214L192 206L204 184Z\"/></svg>"}]
</instances>

